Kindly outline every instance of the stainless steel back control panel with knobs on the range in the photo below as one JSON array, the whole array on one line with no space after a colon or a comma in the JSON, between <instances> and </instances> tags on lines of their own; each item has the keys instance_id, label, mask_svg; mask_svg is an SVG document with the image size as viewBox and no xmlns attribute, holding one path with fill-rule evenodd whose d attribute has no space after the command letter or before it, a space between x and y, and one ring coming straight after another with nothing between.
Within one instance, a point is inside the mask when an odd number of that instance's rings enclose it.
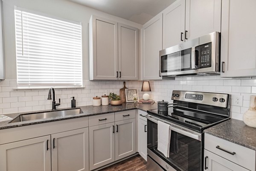
<instances>
[{"instance_id":1,"label":"stainless steel back control panel with knobs on the range","mask_svg":"<svg viewBox=\"0 0 256 171\"><path fill-rule=\"evenodd\" d=\"M226 108L228 106L229 94L173 90L172 100Z\"/></svg>"}]
</instances>

